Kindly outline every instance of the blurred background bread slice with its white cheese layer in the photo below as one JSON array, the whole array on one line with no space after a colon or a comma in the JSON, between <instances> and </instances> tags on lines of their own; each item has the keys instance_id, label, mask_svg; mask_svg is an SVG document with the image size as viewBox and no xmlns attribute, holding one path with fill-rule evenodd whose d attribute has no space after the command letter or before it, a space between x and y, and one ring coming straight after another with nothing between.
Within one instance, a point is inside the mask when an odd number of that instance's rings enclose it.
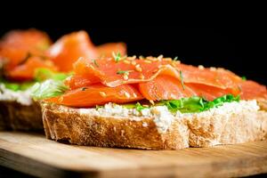
<instances>
[{"instance_id":1,"label":"blurred background bread slice with its white cheese layer","mask_svg":"<svg viewBox=\"0 0 267 178\"><path fill-rule=\"evenodd\" d=\"M28 90L14 92L0 84L0 130L44 132L40 104Z\"/></svg>"}]
</instances>

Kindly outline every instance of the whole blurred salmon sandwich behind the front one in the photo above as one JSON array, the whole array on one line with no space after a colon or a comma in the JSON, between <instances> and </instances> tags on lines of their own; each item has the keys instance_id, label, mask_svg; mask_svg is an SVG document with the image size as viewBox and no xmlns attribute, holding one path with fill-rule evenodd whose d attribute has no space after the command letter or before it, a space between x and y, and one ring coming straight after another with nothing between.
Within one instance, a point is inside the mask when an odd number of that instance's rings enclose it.
<instances>
[{"instance_id":1,"label":"whole blurred salmon sandwich behind the front one","mask_svg":"<svg viewBox=\"0 0 267 178\"><path fill-rule=\"evenodd\" d=\"M13 30L0 41L0 130L43 130L39 104L28 88L47 78L69 76L79 57L111 56L125 53L125 44L95 46L85 31L62 36L54 44L36 29Z\"/></svg>"}]
</instances>

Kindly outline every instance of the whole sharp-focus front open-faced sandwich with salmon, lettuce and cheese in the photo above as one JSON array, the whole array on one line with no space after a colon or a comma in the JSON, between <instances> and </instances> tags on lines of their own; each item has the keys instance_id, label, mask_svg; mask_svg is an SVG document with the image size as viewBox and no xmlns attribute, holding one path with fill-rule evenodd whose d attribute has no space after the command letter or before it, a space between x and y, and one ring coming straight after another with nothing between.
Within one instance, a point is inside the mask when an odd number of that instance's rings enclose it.
<instances>
[{"instance_id":1,"label":"whole sharp-focus front open-faced sandwich with salmon, lettuce and cheese","mask_svg":"<svg viewBox=\"0 0 267 178\"><path fill-rule=\"evenodd\" d=\"M266 87L227 69L114 53L80 58L73 71L31 89L49 139L178 150L267 137Z\"/></svg>"}]
</instances>

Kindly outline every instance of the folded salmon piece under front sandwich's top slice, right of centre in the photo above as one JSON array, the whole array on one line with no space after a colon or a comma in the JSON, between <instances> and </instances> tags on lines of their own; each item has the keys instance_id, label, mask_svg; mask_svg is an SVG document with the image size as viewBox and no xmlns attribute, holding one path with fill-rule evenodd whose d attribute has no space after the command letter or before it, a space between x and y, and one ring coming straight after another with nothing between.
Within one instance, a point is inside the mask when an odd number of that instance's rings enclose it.
<instances>
[{"instance_id":1,"label":"folded salmon piece under front sandwich's top slice, right of centre","mask_svg":"<svg viewBox=\"0 0 267 178\"><path fill-rule=\"evenodd\" d=\"M182 84L180 80L169 76L158 76L150 82L140 83L139 89L147 100L179 100L191 96L200 96L207 101L221 97L225 94L239 95L240 91L222 89L202 84Z\"/></svg>"}]
</instances>

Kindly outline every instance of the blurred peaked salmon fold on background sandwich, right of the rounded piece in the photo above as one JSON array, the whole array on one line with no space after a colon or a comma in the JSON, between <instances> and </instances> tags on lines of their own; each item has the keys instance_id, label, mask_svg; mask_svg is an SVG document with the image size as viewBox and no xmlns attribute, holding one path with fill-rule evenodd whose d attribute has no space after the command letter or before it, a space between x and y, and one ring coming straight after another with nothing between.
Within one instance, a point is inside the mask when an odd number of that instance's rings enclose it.
<instances>
[{"instance_id":1,"label":"blurred peaked salmon fold on background sandwich, right of the rounded piece","mask_svg":"<svg viewBox=\"0 0 267 178\"><path fill-rule=\"evenodd\" d=\"M109 43L95 46L89 35L85 31L73 32L62 36L47 51L61 71L69 72L77 59L96 59L101 57L110 57L112 52L125 55L126 45L124 43Z\"/></svg>"}]
</instances>

